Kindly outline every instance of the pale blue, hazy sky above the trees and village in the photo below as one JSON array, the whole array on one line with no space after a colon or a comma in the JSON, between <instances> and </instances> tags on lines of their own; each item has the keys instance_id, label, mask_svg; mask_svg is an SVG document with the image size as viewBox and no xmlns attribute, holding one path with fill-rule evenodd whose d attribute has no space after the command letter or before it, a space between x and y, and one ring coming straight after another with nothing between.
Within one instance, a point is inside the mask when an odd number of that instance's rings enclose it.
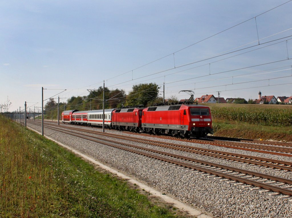
<instances>
[{"instance_id":1,"label":"pale blue, hazy sky above the trees and village","mask_svg":"<svg viewBox=\"0 0 292 218\"><path fill-rule=\"evenodd\" d=\"M0 104L41 107L41 87L66 102L103 81L161 96L164 83L166 99L290 96L287 1L0 1Z\"/></svg>"}]
</instances>

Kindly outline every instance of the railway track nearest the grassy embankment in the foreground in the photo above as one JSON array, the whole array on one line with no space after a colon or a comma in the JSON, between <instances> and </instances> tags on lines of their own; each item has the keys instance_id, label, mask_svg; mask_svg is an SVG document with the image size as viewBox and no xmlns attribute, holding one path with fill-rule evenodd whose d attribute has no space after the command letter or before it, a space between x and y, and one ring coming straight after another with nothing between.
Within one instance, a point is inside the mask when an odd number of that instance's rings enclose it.
<instances>
[{"instance_id":1,"label":"railway track nearest the grassy embankment in the foreground","mask_svg":"<svg viewBox=\"0 0 292 218\"><path fill-rule=\"evenodd\" d=\"M79 138L87 139L93 142L105 144L117 149L122 149L128 152L141 155L143 157L158 160L167 164L174 164L178 167L184 169L192 170L196 173L202 174L204 176L213 177L214 179L220 179L223 181L232 180L229 182L236 183L235 185L244 185L244 187L250 187L253 189L265 189L262 192L273 191L275 193L270 193L271 195L281 193L284 196L281 198L287 198L292 196L292 180L282 177L276 177L272 175L262 174L258 172L253 172L249 170L243 170L239 168L234 168L230 166L220 165L217 163L211 163L208 161L201 161L194 158L189 158L186 156L171 154L163 151L158 151L154 149L148 149L145 147L140 147L138 145L130 145L123 142L117 142L110 139L101 139L96 136L89 136L80 132L73 132L68 130L61 130L60 128L46 126L51 130L76 136ZM255 186L257 188L253 188Z\"/></svg>"}]
</instances>

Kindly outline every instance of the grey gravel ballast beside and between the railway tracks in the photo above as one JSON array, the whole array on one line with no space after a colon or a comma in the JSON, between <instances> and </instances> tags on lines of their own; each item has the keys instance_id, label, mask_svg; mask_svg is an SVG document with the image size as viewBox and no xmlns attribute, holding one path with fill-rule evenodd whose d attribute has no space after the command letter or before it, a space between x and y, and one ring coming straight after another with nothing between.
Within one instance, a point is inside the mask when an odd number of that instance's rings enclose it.
<instances>
[{"instance_id":1,"label":"grey gravel ballast beside and between the railway tracks","mask_svg":"<svg viewBox=\"0 0 292 218\"><path fill-rule=\"evenodd\" d=\"M41 127L39 126L33 124L28 124L28 126L37 131L41 131ZM78 127L86 128L81 126ZM101 131L99 129L94 130ZM160 140L163 142L171 142L175 144L192 145L195 147L227 151L237 154L263 156L265 158L279 159L290 162L292 161L291 158L284 156L229 149L225 147L216 147L191 142L179 142L170 139L153 139L149 136L133 136L131 134L111 130L106 130L106 132L157 141ZM84 154L92 156L93 158L106 163L111 167L119 169L120 171L135 177L140 181L143 181L147 185L161 191L162 193L173 196L174 198L182 201L183 203L187 203L194 208L199 208L199 210L203 212L209 212L214 217L292 217L292 202L287 199L281 199L278 196L269 196L268 193L260 193L258 190L251 191L250 189L243 188L241 185L234 185L234 183L228 183L228 181L213 179L212 177L197 174L194 171L182 170L174 165L150 160L130 152L125 152L120 149L105 146L96 142L91 142L86 139L56 132L55 130L45 128L44 133L56 141L77 149ZM120 139L114 140L125 142L125 140ZM127 143L131 144L131 142ZM137 145L137 143L135 143L135 145ZM204 161L220 163L222 165L244 168L246 170L266 173L289 179L292 178L291 172L283 172L282 170L277 171L273 169L234 163L231 161L195 155L188 152L158 148L157 146L150 146L146 144L139 143L138 145L141 147L166 151L169 153L188 156Z\"/></svg>"}]
</instances>

